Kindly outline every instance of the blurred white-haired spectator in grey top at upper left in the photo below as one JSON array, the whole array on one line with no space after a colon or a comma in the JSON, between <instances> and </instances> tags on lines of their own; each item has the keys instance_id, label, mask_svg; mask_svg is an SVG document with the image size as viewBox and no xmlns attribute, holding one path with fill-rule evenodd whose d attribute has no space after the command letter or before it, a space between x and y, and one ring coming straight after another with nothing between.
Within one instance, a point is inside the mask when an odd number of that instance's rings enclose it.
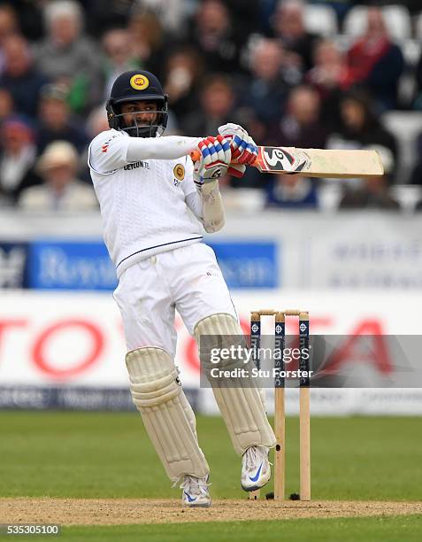
<instances>
[{"instance_id":1,"label":"blurred white-haired spectator in grey top at upper left","mask_svg":"<svg viewBox=\"0 0 422 542\"><path fill-rule=\"evenodd\" d=\"M74 0L56 0L44 11L47 36L35 49L39 69L52 81L69 88L75 112L86 112L102 97L100 54L82 34L82 12Z\"/></svg>"}]
</instances>

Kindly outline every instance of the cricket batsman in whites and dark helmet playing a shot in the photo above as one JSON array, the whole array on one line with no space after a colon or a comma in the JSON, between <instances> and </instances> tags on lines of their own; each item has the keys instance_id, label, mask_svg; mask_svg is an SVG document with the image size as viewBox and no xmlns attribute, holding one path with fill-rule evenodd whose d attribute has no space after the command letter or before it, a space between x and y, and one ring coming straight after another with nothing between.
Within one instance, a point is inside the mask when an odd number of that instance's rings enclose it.
<instances>
[{"instance_id":1,"label":"cricket batsman in whites and dark helmet playing a shot","mask_svg":"<svg viewBox=\"0 0 422 542\"><path fill-rule=\"evenodd\" d=\"M123 320L134 405L182 504L209 507L210 468L198 445L195 414L174 365L175 309L189 333L242 335L203 229L224 225L219 177L242 176L257 145L235 124L203 138L162 137L167 96L146 71L119 75L106 105L110 129L89 146L88 165L104 222L104 241L119 278L113 293ZM191 151L200 151L195 165ZM213 389L234 450L242 488L271 476L272 428L256 387Z\"/></svg>"}]
</instances>

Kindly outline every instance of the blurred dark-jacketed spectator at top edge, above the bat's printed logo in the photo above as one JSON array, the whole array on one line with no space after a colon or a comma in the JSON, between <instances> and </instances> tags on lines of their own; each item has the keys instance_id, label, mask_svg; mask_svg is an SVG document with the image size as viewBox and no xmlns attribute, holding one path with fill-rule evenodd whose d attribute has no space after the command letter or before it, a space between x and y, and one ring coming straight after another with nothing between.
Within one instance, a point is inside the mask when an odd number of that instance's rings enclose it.
<instances>
[{"instance_id":1,"label":"blurred dark-jacketed spectator at top edge, above the bat's printed logo","mask_svg":"<svg viewBox=\"0 0 422 542\"><path fill-rule=\"evenodd\" d=\"M274 12L272 31L287 51L286 63L290 69L303 74L310 70L317 36L305 28L303 0L280 0Z\"/></svg>"}]
</instances>

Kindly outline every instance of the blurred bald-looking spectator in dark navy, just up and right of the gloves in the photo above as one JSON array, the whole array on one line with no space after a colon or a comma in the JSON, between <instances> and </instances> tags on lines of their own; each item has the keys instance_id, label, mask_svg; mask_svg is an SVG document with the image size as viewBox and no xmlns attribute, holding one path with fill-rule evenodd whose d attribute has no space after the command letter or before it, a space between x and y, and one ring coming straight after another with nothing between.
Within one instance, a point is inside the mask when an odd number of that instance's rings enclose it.
<instances>
[{"instance_id":1,"label":"blurred bald-looking spectator in dark navy, just up and right of the gloves","mask_svg":"<svg viewBox=\"0 0 422 542\"><path fill-rule=\"evenodd\" d=\"M243 93L242 105L249 108L265 127L280 119L292 87L283 61L284 51L277 40L262 38L251 51L252 77Z\"/></svg>"}]
</instances>

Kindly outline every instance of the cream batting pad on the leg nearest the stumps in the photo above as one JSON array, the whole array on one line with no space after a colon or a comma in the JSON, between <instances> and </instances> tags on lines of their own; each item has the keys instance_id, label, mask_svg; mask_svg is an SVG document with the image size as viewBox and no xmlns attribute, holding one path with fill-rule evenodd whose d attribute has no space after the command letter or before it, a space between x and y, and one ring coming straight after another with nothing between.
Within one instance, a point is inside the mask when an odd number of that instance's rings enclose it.
<instances>
[{"instance_id":1,"label":"cream batting pad on the leg nearest the stumps","mask_svg":"<svg viewBox=\"0 0 422 542\"><path fill-rule=\"evenodd\" d=\"M195 336L201 335L242 336L243 332L231 314L213 314L196 324ZM202 354L200 352L200 356ZM202 360L204 364L209 360ZM265 406L258 388L253 382L248 387L213 387L214 397L226 422L236 453L244 453L249 446L275 446L275 436L265 414Z\"/></svg>"}]
</instances>

